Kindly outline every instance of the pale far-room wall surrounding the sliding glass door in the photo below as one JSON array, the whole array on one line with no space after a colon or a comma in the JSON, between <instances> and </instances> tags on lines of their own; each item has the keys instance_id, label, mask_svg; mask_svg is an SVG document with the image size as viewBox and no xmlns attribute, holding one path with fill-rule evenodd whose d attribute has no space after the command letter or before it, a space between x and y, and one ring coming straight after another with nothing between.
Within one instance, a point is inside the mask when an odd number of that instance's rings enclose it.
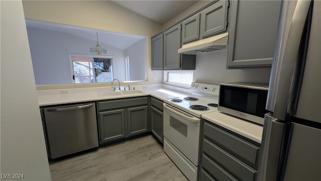
<instances>
[{"instance_id":1,"label":"pale far-room wall surrounding the sliding glass door","mask_svg":"<svg viewBox=\"0 0 321 181\"><path fill-rule=\"evenodd\" d=\"M90 54L95 41L58 31L27 28L33 68L37 85L71 84L69 54ZM126 79L124 72L124 50L100 44L112 56L113 76ZM90 54L92 55L92 54Z\"/></svg>"}]
</instances>

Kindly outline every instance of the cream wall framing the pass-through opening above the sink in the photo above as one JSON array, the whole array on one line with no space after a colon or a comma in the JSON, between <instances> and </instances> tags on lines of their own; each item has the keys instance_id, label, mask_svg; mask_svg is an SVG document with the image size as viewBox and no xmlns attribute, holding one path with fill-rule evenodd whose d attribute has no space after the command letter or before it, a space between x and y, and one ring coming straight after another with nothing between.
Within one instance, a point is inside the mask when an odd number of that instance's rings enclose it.
<instances>
[{"instance_id":1,"label":"cream wall framing the pass-through opening above the sink","mask_svg":"<svg viewBox=\"0 0 321 181\"><path fill-rule=\"evenodd\" d=\"M91 29L119 32L147 37L145 72L147 82L135 84L162 83L162 71L151 70L150 37L162 31L162 25L130 12L110 1L23 1L25 18L44 22L72 25ZM157 80L154 81L153 77ZM66 85L63 87L100 86ZM58 88L59 86L37 86L37 89ZM60 87L59 87L60 88Z\"/></svg>"}]
</instances>

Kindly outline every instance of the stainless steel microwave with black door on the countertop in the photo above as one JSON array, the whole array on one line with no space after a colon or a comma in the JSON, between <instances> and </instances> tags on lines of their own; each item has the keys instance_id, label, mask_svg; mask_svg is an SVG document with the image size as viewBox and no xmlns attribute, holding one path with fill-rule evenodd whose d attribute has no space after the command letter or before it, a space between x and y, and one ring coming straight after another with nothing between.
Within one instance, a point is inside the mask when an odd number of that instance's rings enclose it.
<instances>
[{"instance_id":1,"label":"stainless steel microwave with black door on the countertop","mask_svg":"<svg viewBox=\"0 0 321 181\"><path fill-rule=\"evenodd\" d=\"M268 84L220 84L218 110L263 125Z\"/></svg>"}]
</instances>

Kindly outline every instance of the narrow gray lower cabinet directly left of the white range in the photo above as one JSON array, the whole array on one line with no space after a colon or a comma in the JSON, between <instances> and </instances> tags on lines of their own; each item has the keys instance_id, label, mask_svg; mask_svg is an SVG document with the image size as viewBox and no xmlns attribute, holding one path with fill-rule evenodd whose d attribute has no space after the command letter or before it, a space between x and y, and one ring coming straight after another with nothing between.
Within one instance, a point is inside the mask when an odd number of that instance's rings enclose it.
<instances>
[{"instance_id":1,"label":"narrow gray lower cabinet directly left of the white range","mask_svg":"<svg viewBox=\"0 0 321 181\"><path fill-rule=\"evenodd\" d=\"M163 101L151 97L151 133L163 143Z\"/></svg>"}]
</instances>

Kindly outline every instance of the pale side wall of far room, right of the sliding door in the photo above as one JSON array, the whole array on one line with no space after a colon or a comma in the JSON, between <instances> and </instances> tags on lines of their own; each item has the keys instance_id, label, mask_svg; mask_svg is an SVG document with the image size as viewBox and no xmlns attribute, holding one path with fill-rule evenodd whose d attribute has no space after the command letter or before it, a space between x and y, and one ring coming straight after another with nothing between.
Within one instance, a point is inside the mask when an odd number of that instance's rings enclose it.
<instances>
[{"instance_id":1,"label":"pale side wall of far room, right of the sliding door","mask_svg":"<svg viewBox=\"0 0 321 181\"><path fill-rule=\"evenodd\" d=\"M146 39L142 39L125 50L129 57L130 80L145 80Z\"/></svg>"}]
</instances>

